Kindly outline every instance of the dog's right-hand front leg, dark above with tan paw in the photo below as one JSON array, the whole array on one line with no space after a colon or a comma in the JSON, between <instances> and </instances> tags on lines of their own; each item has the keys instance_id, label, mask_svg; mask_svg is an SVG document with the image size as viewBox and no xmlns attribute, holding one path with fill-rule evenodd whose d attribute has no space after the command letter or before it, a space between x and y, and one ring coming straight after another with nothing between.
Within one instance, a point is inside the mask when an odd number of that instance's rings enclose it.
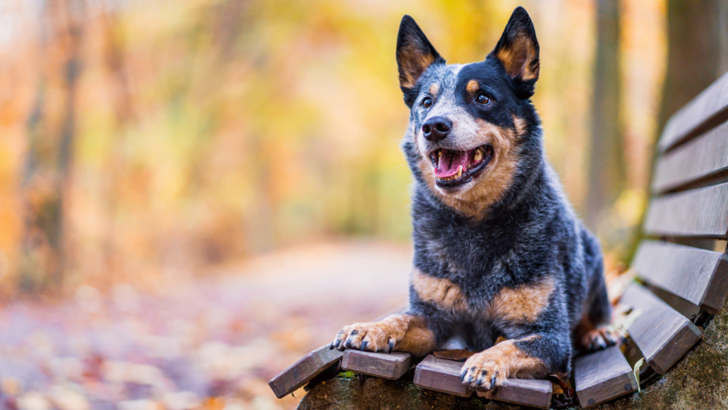
<instances>
[{"instance_id":1,"label":"dog's right-hand front leg, dark above with tan paw","mask_svg":"<svg viewBox=\"0 0 728 410\"><path fill-rule=\"evenodd\" d=\"M505 379L536 379L563 371L569 353L561 349L552 335L535 334L524 339L502 341L490 349L470 356L462 366L460 379L480 390L490 390Z\"/></svg>"}]
</instances>

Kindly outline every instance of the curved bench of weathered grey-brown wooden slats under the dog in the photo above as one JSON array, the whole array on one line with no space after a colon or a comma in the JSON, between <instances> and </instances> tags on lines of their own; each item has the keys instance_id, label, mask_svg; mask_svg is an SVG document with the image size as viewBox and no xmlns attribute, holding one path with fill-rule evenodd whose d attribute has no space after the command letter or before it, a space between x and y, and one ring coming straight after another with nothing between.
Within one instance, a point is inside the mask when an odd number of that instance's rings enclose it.
<instances>
[{"instance_id":1,"label":"curved bench of weathered grey-brown wooden slats under the dog","mask_svg":"<svg viewBox=\"0 0 728 410\"><path fill-rule=\"evenodd\" d=\"M721 309L728 294L728 255L704 249L709 240L728 239L728 74L670 117L657 144L654 178L632 268L638 281L628 285L621 303L633 310L628 325L632 344L646 361L643 372L664 374L703 336L700 325ZM701 247L696 247L700 245ZM341 353L314 350L274 377L278 397L303 386ZM341 368L397 379L411 368L406 353L344 352ZM427 356L416 365L414 384L467 397L460 362ZM574 360L574 383L582 407L638 389L632 366L617 347ZM494 392L499 401L547 409L551 382L509 379Z\"/></svg>"}]
</instances>

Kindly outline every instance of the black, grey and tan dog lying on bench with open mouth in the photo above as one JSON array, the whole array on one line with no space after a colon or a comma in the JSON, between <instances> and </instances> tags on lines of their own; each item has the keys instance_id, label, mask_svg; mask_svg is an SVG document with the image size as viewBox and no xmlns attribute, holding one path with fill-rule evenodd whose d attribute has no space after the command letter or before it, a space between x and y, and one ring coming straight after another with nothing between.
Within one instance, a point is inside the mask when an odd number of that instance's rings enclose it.
<instances>
[{"instance_id":1,"label":"black, grey and tan dog lying on bench with open mouth","mask_svg":"<svg viewBox=\"0 0 728 410\"><path fill-rule=\"evenodd\" d=\"M478 352L462 382L491 390L566 376L574 352L617 343L601 247L545 158L526 10L485 61L464 65L447 64L405 15L397 67L411 110L401 145L414 176L410 306L344 327L330 348L423 356L459 340Z\"/></svg>"}]
</instances>

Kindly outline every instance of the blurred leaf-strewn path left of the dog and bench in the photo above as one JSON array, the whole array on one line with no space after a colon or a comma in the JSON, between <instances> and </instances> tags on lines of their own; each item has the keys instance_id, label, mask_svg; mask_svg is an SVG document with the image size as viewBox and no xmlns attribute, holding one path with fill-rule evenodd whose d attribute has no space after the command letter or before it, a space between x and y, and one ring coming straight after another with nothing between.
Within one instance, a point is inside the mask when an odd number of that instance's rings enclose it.
<instances>
[{"instance_id":1,"label":"blurred leaf-strewn path left of the dog and bench","mask_svg":"<svg viewBox=\"0 0 728 410\"><path fill-rule=\"evenodd\" d=\"M52 306L12 303L0 409L293 409L268 379L405 301L410 262L402 245L318 244L155 293L80 287Z\"/></svg>"}]
</instances>

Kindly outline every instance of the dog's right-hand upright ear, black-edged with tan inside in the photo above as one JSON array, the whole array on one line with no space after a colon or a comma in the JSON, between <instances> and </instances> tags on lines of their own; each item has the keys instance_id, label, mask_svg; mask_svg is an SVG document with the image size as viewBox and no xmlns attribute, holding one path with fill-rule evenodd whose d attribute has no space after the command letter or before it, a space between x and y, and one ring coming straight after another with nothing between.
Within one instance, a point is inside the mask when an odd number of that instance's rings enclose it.
<instances>
[{"instance_id":1,"label":"dog's right-hand upright ear, black-edged with tan inside","mask_svg":"<svg viewBox=\"0 0 728 410\"><path fill-rule=\"evenodd\" d=\"M510 15L501 38L491 52L513 78L519 98L534 95L534 86L539 79L539 42L536 39L534 23L523 7L517 7Z\"/></svg>"}]
</instances>

